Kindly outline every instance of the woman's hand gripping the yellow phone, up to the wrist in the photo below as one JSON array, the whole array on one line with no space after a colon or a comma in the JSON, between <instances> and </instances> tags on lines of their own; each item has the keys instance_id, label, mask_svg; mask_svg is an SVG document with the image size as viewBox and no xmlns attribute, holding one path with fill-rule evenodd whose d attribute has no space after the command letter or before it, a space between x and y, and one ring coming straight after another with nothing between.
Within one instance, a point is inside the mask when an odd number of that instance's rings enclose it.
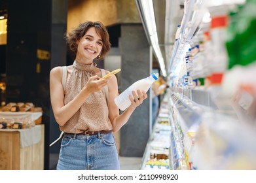
<instances>
[{"instance_id":1,"label":"woman's hand gripping the yellow phone, up to the wrist","mask_svg":"<svg viewBox=\"0 0 256 183\"><path fill-rule=\"evenodd\" d=\"M85 84L83 90L87 90L89 93L98 92L107 84L109 78L100 80L99 76L92 76L88 79L88 82Z\"/></svg>"}]
</instances>

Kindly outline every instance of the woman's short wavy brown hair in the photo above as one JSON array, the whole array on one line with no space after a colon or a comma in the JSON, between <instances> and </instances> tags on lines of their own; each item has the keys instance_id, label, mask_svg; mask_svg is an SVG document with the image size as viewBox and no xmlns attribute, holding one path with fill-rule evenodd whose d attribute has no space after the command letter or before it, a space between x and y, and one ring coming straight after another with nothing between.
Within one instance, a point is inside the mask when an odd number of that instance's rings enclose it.
<instances>
[{"instance_id":1,"label":"woman's short wavy brown hair","mask_svg":"<svg viewBox=\"0 0 256 183\"><path fill-rule=\"evenodd\" d=\"M102 59L109 52L111 44L109 42L109 33L107 32L105 25L103 25L101 22L83 22L77 28L73 29L73 31L71 31L70 33L66 33L65 39L67 41L67 44L69 45L69 49L77 53L77 41L86 34L90 27L95 27L96 33L98 33L98 35L100 35L102 39L103 45L100 57L96 58Z\"/></svg>"}]
</instances>

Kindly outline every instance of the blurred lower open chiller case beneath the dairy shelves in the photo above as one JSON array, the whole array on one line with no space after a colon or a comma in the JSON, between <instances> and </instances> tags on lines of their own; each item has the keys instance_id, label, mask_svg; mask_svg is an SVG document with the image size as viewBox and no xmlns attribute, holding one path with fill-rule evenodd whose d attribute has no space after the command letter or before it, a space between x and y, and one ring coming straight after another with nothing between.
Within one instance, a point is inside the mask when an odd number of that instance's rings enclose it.
<instances>
[{"instance_id":1,"label":"blurred lower open chiller case beneath the dairy shelves","mask_svg":"<svg viewBox=\"0 0 256 183\"><path fill-rule=\"evenodd\" d=\"M168 154L170 166L164 169L255 169L255 133L242 126L237 118L218 112L213 108L194 103L181 93L168 91L161 106L169 112L159 114L158 122L164 116L170 128L163 133L161 141L156 135L163 130L156 123L147 143L141 169L160 169L160 159L152 154ZM166 105L168 103L168 105ZM161 111L161 110L160 110ZM161 132L160 132L161 133ZM160 136L158 136L160 137ZM155 161L154 161L155 159Z\"/></svg>"}]
</instances>

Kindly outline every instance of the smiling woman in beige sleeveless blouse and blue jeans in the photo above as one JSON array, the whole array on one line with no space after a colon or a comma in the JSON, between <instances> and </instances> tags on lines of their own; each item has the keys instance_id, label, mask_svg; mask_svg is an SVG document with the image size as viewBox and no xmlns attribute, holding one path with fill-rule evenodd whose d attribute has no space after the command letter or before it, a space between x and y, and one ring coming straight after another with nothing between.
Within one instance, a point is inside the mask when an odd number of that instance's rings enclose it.
<instances>
[{"instance_id":1,"label":"smiling woman in beige sleeveless blouse and blue jeans","mask_svg":"<svg viewBox=\"0 0 256 183\"><path fill-rule=\"evenodd\" d=\"M101 22L83 22L66 39L75 61L50 71L52 110L64 132L57 169L119 169L113 132L128 122L147 94L138 90L137 96L133 91L132 105L119 114L114 101L116 76L100 79L109 72L93 63L110 50L109 34Z\"/></svg>"}]
</instances>

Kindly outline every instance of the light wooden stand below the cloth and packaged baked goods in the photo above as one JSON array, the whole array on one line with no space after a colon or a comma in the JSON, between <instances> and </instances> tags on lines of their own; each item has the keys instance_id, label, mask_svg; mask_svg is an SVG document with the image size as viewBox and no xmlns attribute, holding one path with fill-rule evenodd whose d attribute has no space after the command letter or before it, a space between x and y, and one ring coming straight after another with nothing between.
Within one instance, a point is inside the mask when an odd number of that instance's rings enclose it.
<instances>
[{"instance_id":1,"label":"light wooden stand below the cloth and packaged baked goods","mask_svg":"<svg viewBox=\"0 0 256 183\"><path fill-rule=\"evenodd\" d=\"M45 126L41 125L41 140L20 147L19 131L0 131L0 170L43 170Z\"/></svg>"}]
</instances>

